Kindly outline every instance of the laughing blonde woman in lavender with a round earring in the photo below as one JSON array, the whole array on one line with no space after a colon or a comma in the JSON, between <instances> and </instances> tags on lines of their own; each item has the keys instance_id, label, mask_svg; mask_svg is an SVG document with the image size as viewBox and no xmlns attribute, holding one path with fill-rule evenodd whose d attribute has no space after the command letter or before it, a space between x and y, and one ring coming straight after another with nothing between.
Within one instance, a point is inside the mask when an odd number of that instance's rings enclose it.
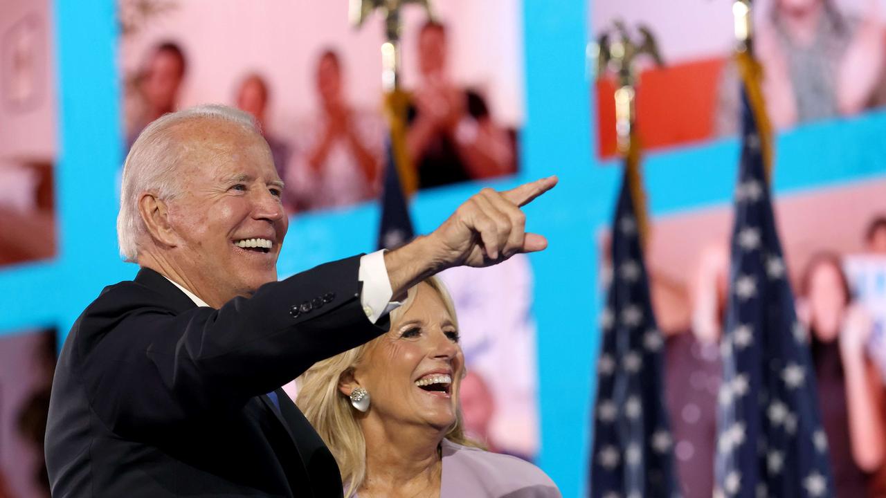
<instances>
[{"instance_id":1,"label":"laughing blonde woman in lavender with a round earring","mask_svg":"<svg viewBox=\"0 0 886 498\"><path fill-rule=\"evenodd\" d=\"M346 497L560 496L532 463L465 438L459 334L431 277L409 289L389 332L301 377L297 404L335 456Z\"/></svg>"}]
</instances>

